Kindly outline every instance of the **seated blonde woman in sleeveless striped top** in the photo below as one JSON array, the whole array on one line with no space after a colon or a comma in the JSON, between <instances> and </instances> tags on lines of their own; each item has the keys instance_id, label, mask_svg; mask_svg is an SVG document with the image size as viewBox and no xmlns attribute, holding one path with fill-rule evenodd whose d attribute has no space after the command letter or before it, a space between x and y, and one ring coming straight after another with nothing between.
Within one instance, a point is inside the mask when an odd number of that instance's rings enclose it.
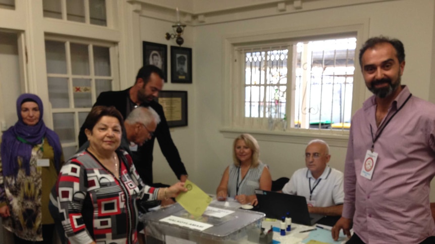
<instances>
[{"instance_id":1,"label":"seated blonde woman in sleeveless striped top","mask_svg":"<svg viewBox=\"0 0 435 244\"><path fill-rule=\"evenodd\" d=\"M266 165L259 160L260 148L250 134L241 134L234 140L233 160L225 169L216 197L225 201L233 197L241 204L257 205L255 189L270 191L272 179Z\"/></svg>"}]
</instances>

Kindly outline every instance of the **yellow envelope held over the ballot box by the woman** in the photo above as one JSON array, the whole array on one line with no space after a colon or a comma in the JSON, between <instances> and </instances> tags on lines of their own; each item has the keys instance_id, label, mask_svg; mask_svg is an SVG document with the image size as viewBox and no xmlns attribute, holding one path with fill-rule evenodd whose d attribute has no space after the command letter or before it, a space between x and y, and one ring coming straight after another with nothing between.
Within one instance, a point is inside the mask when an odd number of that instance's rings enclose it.
<instances>
[{"instance_id":1,"label":"yellow envelope held over the ballot box by the woman","mask_svg":"<svg viewBox=\"0 0 435 244\"><path fill-rule=\"evenodd\" d=\"M175 200L193 216L201 216L208 204L210 204L211 197L189 180L186 180L184 187L186 187L188 191L181 192Z\"/></svg>"}]
</instances>

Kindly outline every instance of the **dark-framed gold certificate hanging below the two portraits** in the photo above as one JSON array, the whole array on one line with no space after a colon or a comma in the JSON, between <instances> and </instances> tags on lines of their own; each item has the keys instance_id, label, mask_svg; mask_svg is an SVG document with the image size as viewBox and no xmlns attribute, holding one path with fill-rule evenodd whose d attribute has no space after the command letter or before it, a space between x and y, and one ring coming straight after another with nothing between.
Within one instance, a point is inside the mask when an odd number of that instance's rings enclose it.
<instances>
[{"instance_id":1,"label":"dark-framed gold certificate hanging below the two portraits","mask_svg":"<svg viewBox=\"0 0 435 244\"><path fill-rule=\"evenodd\" d=\"M157 102L163 107L169 127L187 126L187 91L160 91Z\"/></svg>"}]
</instances>

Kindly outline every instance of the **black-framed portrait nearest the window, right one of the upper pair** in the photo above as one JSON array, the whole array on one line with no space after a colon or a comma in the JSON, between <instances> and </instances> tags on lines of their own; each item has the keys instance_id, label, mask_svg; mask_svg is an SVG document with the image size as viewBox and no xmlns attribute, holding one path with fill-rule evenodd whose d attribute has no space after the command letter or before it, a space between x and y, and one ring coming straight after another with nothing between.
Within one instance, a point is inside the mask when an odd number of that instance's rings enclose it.
<instances>
[{"instance_id":1,"label":"black-framed portrait nearest the window, right one of the upper pair","mask_svg":"<svg viewBox=\"0 0 435 244\"><path fill-rule=\"evenodd\" d=\"M171 46L171 82L192 83L192 48Z\"/></svg>"}]
</instances>

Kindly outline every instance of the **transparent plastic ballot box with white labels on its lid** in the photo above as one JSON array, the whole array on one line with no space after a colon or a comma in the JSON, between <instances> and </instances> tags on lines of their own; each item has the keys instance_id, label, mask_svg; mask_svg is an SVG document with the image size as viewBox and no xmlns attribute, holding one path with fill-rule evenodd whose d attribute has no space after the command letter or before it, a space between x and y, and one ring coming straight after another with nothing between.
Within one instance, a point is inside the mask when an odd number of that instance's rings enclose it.
<instances>
[{"instance_id":1,"label":"transparent plastic ballot box with white labels on its lid","mask_svg":"<svg viewBox=\"0 0 435 244\"><path fill-rule=\"evenodd\" d=\"M145 224L147 244L252 243L248 232L261 228L265 214L210 204L204 214L194 217L178 203L140 217Z\"/></svg>"}]
</instances>

